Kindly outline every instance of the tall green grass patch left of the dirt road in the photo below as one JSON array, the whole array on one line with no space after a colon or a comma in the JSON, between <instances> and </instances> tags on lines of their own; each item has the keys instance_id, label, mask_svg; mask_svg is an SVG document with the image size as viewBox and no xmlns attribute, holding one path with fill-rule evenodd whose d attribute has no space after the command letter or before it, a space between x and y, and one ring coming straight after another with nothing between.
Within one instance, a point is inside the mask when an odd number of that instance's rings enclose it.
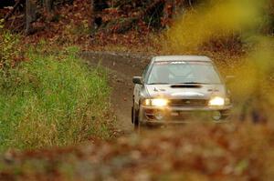
<instances>
[{"instance_id":1,"label":"tall green grass patch left of the dirt road","mask_svg":"<svg viewBox=\"0 0 274 181\"><path fill-rule=\"evenodd\" d=\"M77 51L30 51L30 61L0 78L0 150L67 146L110 136L106 73L82 65Z\"/></svg>"}]
</instances>

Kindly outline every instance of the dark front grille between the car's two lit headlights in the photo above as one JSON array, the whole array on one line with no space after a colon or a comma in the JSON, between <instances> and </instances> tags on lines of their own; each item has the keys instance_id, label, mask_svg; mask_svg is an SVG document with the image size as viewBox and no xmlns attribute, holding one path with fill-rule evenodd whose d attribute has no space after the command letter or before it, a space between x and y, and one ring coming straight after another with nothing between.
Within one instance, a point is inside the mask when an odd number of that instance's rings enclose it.
<instances>
[{"instance_id":1,"label":"dark front grille between the car's two lit headlights","mask_svg":"<svg viewBox=\"0 0 274 181\"><path fill-rule=\"evenodd\" d=\"M169 106L207 106L205 99L171 99Z\"/></svg>"}]
</instances>

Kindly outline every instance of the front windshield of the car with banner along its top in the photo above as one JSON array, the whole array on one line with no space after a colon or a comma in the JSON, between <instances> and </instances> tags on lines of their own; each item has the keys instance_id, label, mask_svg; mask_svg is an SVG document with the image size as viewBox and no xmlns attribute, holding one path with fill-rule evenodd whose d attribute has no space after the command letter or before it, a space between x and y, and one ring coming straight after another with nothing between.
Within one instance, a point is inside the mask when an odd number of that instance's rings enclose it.
<instances>
[{"instance_id":1,"label":"front windshield of the car with banner along its top","mask_svg":"<svg viewBox=\"0 0 274 181\"><path fill-rule=\"evenodd\" d=\"M210 62L155 62L147 84L220 84L221 80Z\"/></svg>"}]
</instances>

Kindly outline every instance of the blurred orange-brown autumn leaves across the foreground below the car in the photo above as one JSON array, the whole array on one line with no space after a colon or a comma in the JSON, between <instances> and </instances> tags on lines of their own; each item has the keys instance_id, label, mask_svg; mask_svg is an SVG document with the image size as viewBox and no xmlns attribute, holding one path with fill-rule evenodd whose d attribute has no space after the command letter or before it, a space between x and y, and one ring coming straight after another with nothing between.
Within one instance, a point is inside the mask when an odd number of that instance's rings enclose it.
<instances>
[{"instance_id":1,"label":"blurred orange-brown autumn leaves across the foreground below the car","mask_svg":"<svg viewBox=\"0 0 274 181\"><path fill-rule=\"evenodd\" d=\"M273 134L265 126L194 124L121 137L114 143L11 152L3 157L0 178L272 180Z\"/></svg>"}]
</instances>

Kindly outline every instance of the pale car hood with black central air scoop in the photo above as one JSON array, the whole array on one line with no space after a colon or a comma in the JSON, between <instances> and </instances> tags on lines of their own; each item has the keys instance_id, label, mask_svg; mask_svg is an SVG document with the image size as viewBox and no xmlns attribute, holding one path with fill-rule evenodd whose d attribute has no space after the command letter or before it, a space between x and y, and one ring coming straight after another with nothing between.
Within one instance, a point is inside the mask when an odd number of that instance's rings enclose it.
<instances>
[{"instance_id":1,"label":"pale car hood with black central air scoop","mask_svg":"<svg viewBox=\"0 0 274 181\"><path fill-rule=\"evenodd\" d=\"M150 97L170 99L209 99L212 96L227 96L225 85L145 85Z\"/></svg>"}]
</instances>

